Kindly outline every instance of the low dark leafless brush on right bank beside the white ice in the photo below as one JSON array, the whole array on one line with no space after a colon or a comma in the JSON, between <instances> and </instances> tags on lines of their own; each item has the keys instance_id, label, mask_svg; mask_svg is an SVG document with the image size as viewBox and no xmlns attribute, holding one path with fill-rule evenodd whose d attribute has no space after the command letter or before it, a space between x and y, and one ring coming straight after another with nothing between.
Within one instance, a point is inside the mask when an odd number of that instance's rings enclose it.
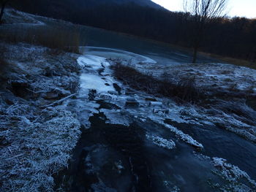
<instances>
[{"instance_id":1,"label":"low dark leafless brush on right bank beside the white ice","mask_svg":"<svg viewBox=\"0 0 256 192\"><path fill-rule=\"evenodd\" d=\"M114 75L131 88L154 95L174 97L178 101L197 102L204 94L196 87L195 79L183 79L180 82L157 80L151 75L141 74L130 66L113 65Z\"/></svg>"}]
</instances>

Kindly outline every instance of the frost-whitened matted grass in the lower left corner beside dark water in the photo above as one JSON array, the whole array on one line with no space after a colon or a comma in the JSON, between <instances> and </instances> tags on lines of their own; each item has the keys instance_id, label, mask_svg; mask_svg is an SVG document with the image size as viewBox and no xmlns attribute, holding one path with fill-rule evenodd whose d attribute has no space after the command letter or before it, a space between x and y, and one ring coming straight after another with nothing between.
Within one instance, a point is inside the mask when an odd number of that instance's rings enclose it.
<instances>
[{"instance_id":1,"label":"frost-whitened matted grass in the lower left corner beside dark water","mask_svg":"<svg viewBox=\"0 0 256 192\"><path fill-rule=\"evenodd\" d=\"M12 110L10 109L12 107ZM80 123L64 106L37 114L16 104L1 115L0 172L3 191L52 191L53 174L67 167ZM1 109L1 113L5 111Z\"/></svg>"}]
</instances>

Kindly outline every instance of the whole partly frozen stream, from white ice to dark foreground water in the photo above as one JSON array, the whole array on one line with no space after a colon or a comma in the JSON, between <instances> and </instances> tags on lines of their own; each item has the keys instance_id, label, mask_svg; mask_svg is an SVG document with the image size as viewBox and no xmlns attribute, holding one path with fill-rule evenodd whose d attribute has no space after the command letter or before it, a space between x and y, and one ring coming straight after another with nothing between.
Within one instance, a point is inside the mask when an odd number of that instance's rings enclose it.
<instances>
[{"instance_id":1,"label":"whole partly frozen stream, from white ice to dark foreground water","mask_svg":"<svg viewBox=\"0 0 256 192\"><path fill-rule=\"evenodd\" d=\"M144 72L157 61L102 47L83 50L80 94L69 104L83 124L62 181L69 191L256 190L253 142L215 126L217 118L195 106L122 85L108 59L145 65Z\"/></svg>"}]
</instances>

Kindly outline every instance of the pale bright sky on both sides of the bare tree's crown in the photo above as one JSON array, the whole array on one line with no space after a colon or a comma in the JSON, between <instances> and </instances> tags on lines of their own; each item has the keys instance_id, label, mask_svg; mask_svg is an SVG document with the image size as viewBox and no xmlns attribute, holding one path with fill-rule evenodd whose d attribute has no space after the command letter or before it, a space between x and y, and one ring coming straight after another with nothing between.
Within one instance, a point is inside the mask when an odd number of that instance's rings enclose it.
<instances>
[{"instance_id":1,"label":"pale bright sky on both sides of the bare tree's crown","mask_svg":"<svg viewBox=\"0 0 256 192\"><path fill-rule=\"evenodd\" d=\"M152 0L170 11L183 11L183 0ZM228 0L227 15L256 18L256 0Z\"/></svg>"}]
</instances>

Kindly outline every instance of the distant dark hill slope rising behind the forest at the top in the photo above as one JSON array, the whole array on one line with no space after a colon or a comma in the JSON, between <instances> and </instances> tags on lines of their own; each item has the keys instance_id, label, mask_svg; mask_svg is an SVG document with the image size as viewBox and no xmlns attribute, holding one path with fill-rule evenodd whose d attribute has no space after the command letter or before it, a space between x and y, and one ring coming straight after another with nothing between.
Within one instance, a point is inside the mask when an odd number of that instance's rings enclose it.
<instances>
[{"instance_id":1,"label":"distant dark hill slope rising behind the forest at the top","mask_svg":"<svg viewBox=\"0 0 256 192\"><path fill-rule=\"evenodd\" d=\"M72 20L76 12L86 9L102 5L121 6L124 4L137 4L142 7L153 7L157 9L162 8L150 0L13 0L10 2L12 7L18 8L21 11L65 20Z\"/></svg>"}]
</instances>

